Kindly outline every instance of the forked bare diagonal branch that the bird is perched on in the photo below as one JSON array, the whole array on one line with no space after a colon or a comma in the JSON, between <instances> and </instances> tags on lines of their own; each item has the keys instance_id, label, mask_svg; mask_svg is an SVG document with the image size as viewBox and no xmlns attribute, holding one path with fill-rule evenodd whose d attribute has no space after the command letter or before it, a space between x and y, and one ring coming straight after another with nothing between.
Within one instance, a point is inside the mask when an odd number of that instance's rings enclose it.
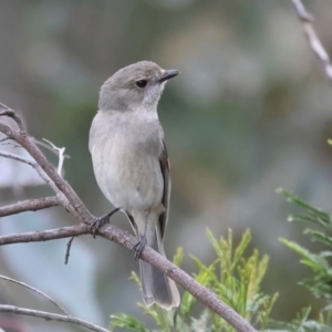
<instances>
[{"instance_id":1,"label":"forked bare diagonal branch that the bird is perched on","mask_svg":"<svg viewBox=\"0 0 332 332\"><path fill-rule=\"evenodd\" d=\"M2 112L0 112L0 116L9 115L17 120L18 115L13 115L12 110L9 111L7 111L6 114L1 114ZM18 242L46 241L51 239L68 238L84 234L91 234L90 226L95 220L95 217L91 215L91 212L83 205L82 200L72 189L72 187L56 173L53 165L45 158L45 156L31 141L31 138L28 137L24 128L20 127L20 132L17 132L12 131L3 123L0 123L0 132L13 138L30 153L30 155L34 158L34 160L38 163L41 169L48 175L48 177L52 180L54 186L59 189L60 196L56 197L59 197L59 199L68 201L69 206L72 207L71 211L81 222L76 226L64 227L60 229L1 236L0 246ZM61 194L63 196L61 196ZM97 235L108 240L112 240L118 245L122 245L131 250L133 250L137 241L135 237L112 225L103 226L100 230L97 230ZM243 318L241 318L235 310L232 310L226 303L219 300L212 291L199 284L190 276L177 268L175 264L173 264L170 261L157 253L152 248L145 247L143 249L141 258L146 262L151 263L152 266L156 267L160 271L163 271L169 278L174 279L196 299L205 303L209 309L211 309L221 318L224 318L238 332L256 332L256 330ZM11 307L11 310L13 310L13 307Z\"/></svg>"}]
</instances>

